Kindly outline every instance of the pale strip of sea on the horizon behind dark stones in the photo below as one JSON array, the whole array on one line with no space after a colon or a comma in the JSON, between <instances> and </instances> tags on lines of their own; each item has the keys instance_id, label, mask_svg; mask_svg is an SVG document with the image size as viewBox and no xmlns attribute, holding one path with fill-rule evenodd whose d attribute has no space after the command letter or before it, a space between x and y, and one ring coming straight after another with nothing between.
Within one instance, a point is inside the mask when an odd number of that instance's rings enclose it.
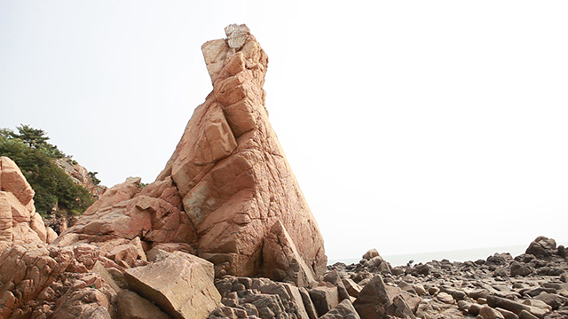
<instances>
[{"instance_id":1,"label":"pale strip of sea on the horizon behind dark stones","mask_svg":"<svg viewBox=\"0 0 568 319\"><path fill-rule=\"evenodd\" d=\"M381 255L385 261L389 261L392 267L404 266L408 261L414 261L414 264L419 262L425 263L428 261L441 261L446 259L448 261L477 261L485 260L494 253L510 253L511 256L516 257L521 253L525 253L528 245L509 245L501 247L489 248L476 248L476 249L462 249L446 252L432 252L432 253L407 253L398 255ZM381 253L381 252L379 252ZM358 263L361 257L344 258L341 260L329 260L328 265L333 265L335 262L343 262L347 265Z\"/></svg>"}]
</instances>

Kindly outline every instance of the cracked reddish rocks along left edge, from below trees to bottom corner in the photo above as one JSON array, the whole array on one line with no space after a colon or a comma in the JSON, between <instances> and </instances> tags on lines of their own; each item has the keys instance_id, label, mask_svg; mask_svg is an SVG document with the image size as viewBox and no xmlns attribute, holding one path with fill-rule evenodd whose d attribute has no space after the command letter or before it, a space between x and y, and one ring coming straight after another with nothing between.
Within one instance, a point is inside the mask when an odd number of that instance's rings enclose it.
<instances>
[{"instance_id":1,"label":"cracked reddish rocks along left edge, from below trees to bottom corner","mask_svg":"<svg viewBox=\"0 0 568 319\"><path fill-rule=\"evenodd\" d=\"M47 246L57 235L20 168L0 158L0 318L111 318L115 292L91 269L99 248Z\"/></svg>"}]
</instances>

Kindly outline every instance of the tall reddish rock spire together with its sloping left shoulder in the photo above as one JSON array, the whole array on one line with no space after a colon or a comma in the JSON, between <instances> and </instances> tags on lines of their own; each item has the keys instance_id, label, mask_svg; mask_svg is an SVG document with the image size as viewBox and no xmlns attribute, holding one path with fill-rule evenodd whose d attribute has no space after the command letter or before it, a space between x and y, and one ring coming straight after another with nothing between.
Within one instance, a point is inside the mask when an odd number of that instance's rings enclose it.
<instances>
[{"instance_id":1,"label":"tall reddish rock spire together with its sloping left shoulder","mask_svg":"<svg viewBox=\"0 0 568 319\"><path fill-rule=\"evenodd\" d=\"M309 285L324 274L318 225L264 108L268 58L248 27L225 33L202 46L213 91L156 182L106 191L59 245L139 237L146 251L174 243L196 253L217 276Z\"/></svg>"}]
</instances>

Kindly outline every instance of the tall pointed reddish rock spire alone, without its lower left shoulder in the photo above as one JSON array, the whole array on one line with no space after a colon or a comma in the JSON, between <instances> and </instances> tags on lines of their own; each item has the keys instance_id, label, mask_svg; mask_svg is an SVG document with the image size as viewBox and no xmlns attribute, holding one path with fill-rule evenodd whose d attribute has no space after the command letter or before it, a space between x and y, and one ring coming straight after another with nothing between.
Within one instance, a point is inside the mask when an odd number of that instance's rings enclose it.
<instances>
[{"instance_id":1,"label":"tall pointed reddish rock spire alone, without its lower left shoulder","mask_svg":"<svg viewBox=\"0 0 568 319\"><path fill-rule=\"evenodd\" d=\"M227 39L201 48L213 92L193 113L158 180L171 176L177 185L197 230L197 251L217 272L274 278L288 271L265 268L262 257L264 238L280 222L321 276L323 238L264 108L268 58L245 25L225 33Z\"/></svg>"}]
</instances>

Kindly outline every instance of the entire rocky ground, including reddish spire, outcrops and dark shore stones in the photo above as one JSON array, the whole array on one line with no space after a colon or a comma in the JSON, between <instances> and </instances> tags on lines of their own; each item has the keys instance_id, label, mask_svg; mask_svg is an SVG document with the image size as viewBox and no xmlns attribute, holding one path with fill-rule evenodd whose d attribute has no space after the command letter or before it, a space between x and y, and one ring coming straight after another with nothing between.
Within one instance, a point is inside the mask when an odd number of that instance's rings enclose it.
<instances>
[{"instance_id":1,"label":"entire rocky ground, including reddish spire, outcrops and dark shore stones","mask_svg":"<svg viewBox=\"0 0 568 319\"><path fill-rule=\"evenodd\" d=\"M98 188L58 234L0 158L0 318L568 318L568 253L548 237L518 256L327 265L268 120L268 57L245 25L225 34L201 48L213 90L154 183Z\"/></svg>"}]
</instances>

